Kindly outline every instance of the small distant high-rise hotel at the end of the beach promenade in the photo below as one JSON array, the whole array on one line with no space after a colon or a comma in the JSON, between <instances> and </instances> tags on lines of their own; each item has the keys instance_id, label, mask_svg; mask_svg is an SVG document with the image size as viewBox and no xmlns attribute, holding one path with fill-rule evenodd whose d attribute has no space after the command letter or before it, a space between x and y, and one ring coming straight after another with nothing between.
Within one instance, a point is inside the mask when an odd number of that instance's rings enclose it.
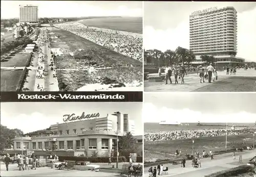
<instances>
[{"instance_id":1,"label":"small distant high-rise hotel at the end of the beach promenade","mask_svg":"<svg viewBox=\"0 0 256 177\"><path fill-rule=\"evenodd\" d=\"M19 5L19 22L20 23L29 23L29 24L38 24L38 6Z\"/></svg>"}]
</instances>

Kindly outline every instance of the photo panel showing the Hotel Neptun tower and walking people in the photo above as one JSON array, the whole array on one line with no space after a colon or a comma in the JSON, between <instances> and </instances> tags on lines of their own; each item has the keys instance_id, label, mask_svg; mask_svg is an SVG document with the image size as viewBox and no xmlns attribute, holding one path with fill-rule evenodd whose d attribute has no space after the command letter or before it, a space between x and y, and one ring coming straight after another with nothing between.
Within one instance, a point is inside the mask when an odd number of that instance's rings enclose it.
<instances>
[{"instance_id":1,"label":"photo panel showing the Hotel Neptun tower and walking people","mask_svg":"<svg viewBox=\"0 0 256 177\"><path fill-rule=\"evenodd\" d=\"M254 2L144 2L143 20L144 91L256 92Z\"/></svg>"}]
</instances>

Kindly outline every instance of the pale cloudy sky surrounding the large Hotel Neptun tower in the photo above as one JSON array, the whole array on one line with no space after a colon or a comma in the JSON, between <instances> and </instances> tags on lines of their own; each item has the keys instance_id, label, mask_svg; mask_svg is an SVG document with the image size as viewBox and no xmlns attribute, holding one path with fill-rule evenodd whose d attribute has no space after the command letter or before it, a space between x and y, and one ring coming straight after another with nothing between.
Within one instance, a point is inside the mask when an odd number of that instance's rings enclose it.
<instances>
[{"instance_id":1,"label":"pale cloudy sky surrounding the large Hotel Neptun tower","mask_svg":"<svg viewBox=\"0 0 256 177\"><path fill-rule=\"evenodd\" d=\"M256 62L255 2L144 2L145 49L189 48L189 15L211 7L234 7L238 12L237 57Z\"/></svg>"}]
</instances>

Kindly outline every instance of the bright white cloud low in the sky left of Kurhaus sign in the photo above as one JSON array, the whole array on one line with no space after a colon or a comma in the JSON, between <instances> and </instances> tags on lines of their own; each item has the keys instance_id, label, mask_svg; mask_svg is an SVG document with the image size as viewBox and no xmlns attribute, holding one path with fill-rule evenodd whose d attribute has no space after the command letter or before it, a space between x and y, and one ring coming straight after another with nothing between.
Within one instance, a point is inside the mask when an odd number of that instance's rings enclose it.
<instances>
[{"instance_id":1,"label":"bright white cloud low in the sky left of Kurhaus sign","mask_svg":"<svg viewBox=\"0 0 256 177\"><path fill-rule=\"evenodd\" d=\"M22 130L24 133L47 129L55 123L52 117L37 112L10 116L8 113L1 111L2 125L7 126L8 129Z\"/></svg>"}]
</instances>

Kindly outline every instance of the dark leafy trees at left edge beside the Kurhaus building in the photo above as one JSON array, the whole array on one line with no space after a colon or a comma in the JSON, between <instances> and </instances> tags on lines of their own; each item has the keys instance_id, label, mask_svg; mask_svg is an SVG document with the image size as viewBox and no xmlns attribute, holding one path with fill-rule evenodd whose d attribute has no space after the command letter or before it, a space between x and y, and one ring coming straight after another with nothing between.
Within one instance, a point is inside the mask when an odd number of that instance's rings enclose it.
<instances>
[{"instance_id":1,"label":"dark leafy trees at left edge beside the Kurhaus building","mask_svg":"<svg viewBox=\"0 0 256 177\"><path fill-rule=\"evenodd\" d=\"M12 139L15 138L15 136L23 136L24 133L23 131L19 129L8 129L6 126L1 124L1 144L0 144L0 149L3 151L5 148L11 148L13 146L13 141Z\"/></svg>"}]
</instances>

